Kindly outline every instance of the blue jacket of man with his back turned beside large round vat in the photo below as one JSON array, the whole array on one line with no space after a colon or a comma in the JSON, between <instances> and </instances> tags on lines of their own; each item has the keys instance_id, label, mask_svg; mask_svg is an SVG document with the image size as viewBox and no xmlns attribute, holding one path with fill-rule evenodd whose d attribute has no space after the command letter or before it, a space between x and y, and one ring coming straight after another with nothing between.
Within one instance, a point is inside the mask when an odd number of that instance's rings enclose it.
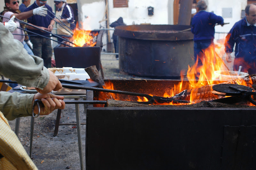
<instances>
[{"instance_id":1,"label":"blue jacket of man with his back turned beside large round vat","mask_svg":"<svg viewBox=\"0 0 256 170\"><path fill-rule=\"evenodd\" d=\"M197 12L191 23L191 32L194 34L194 41L213 40L215 24L223 23L223 18L212 12Z\"/></svg>"}]
</instances>

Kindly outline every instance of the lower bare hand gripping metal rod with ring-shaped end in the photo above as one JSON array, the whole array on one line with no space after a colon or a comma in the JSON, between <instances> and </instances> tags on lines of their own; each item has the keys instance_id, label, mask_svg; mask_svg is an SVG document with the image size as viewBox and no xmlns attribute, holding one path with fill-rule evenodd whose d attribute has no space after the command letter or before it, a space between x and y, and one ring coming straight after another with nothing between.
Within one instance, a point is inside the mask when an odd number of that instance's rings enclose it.
<instances>
[{"instance_id":1,"label":"lower bare hand gripping metal rod with ring-shaped end","mask_svg":"<svg viewBox=\"0 0 256 170\"><path fill-rule=\"evenodd\" d=\"M47 94L40 94L36 93L33 98L34 101L38 99L41 100L44 106L40 106L40 115L48 115L55 109L64 109L65 108L65 102L63 101L64 96L57 96L52 93ZM34 113L38 114L38 106L37 104L34 107Z\"/></svg>"}]
</instances>

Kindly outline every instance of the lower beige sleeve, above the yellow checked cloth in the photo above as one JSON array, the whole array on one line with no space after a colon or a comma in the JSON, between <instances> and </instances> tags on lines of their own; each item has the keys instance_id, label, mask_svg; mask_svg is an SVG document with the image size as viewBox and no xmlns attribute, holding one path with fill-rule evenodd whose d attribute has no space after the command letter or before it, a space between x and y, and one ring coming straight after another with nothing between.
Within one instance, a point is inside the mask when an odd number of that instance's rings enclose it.
<instances>
[{"instance_id":1,"label":"lower beige sleeve, above the yellow checked cloth","mask_svg":"<svg viewBox=\"0 0 256 170\"><path fill-rule=\"evenodd\" d=\"M0 111L7 120L32 116L32 101L35 94L0 92Z\"/></svg>"}]
</instances>

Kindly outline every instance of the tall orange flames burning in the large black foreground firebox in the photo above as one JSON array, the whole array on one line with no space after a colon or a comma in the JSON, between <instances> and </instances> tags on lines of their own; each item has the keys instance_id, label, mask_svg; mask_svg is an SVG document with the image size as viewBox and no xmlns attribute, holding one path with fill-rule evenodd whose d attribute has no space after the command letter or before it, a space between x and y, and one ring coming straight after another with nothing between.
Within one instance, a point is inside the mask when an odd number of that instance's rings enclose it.
<instances>
[{"instance_id":1,"label":"tall orange flames burning in the large black foreground firebox","mask_svg":"<svg viewBox=\"0 0 256 170\"><path fill-rule=\"evenodd\" d=\"M239 78L239 75L233 73L232 71L228 71L227 66L225 65L222 57L225 56L224 50L224 41L221 43L216 43L215 45L210 45L207 49L203 50L203 53L197 56L195 64L193 66L188 66L187 71L187 79L189 81L189 88L191 90L190 93L190 104L193 104L196 99L200 99L201 96L198 96L198 88L202 86L218 84L224 81L223 77L218 75L217 71L221 71L221 73L225 74L225 81L233 80ZM202 65L199 65L199 60L202 61ZM174 85L174 87L170 91L165 91L163 97L172 97L178 93L180 93L182 88L184 88L183 80L186 79L184 77L185 71L180 72L181 82L178 85ZM240 74L241 75L241 74ZM247 85L245 81L242 79L236 80L236 83L239 85ZM252 80L251 80L252 83ZM108 84L107 89L114 89L113 84ZM154 96L154 95L151 95ZM113 94L113 97L116 100L124 100L120 98L118 95ZM134 101L130 98L126 99L126 101ZM148 101L147 98L138 97L137 101ZM171 103L177 105L177 103ZM179 103L182 104L182 103Z\"/></svg>"}]
</instances>

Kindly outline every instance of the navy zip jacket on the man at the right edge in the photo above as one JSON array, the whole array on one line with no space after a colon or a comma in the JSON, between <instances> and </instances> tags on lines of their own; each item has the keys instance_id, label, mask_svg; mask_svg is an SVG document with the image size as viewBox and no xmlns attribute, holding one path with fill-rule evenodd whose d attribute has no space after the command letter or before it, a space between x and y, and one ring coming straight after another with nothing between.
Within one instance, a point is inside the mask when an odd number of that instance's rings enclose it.
<instances>
[{"instance_id":1,"label":"navy zip jacket on the man at the right edge","mask_svg":"<svg viewBox=\"0 0 256 170\"><path fill-rule=\"evenodd\" d=\"M233 52L234 45L236 58L245 61L256 60L256 27L247 26L246 18L236 22L226 36L225 51Z\"/></svg>"}]
</instances>

